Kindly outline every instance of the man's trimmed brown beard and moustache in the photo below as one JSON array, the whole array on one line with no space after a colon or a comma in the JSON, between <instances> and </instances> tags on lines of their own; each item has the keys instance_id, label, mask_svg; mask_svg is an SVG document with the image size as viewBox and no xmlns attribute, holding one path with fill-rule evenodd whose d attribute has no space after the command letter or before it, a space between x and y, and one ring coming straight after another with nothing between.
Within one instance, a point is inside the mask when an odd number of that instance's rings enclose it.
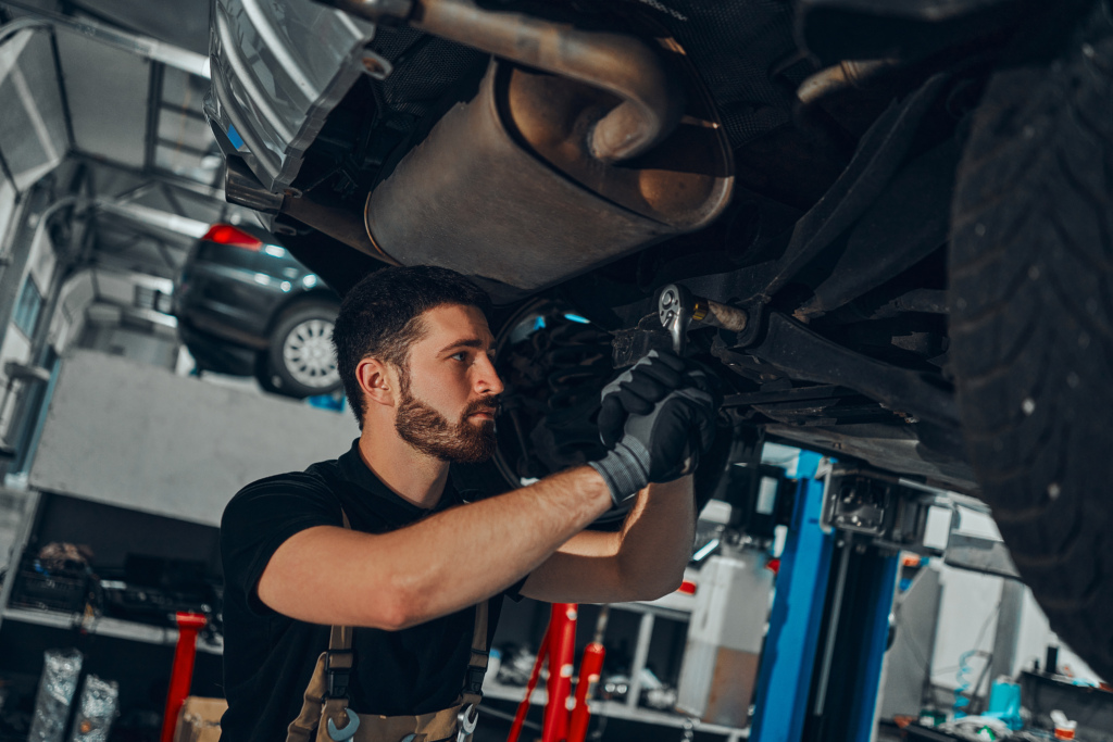
<instances>
[{"instance_id":1,"label":"man's trimmed brown beard and moustache","mask_svg":"<svg viewBox=\"0 0 1113 742\"><path fill-rule=\"evenodd\" d=\"M403 372L404 374L404 372ZM452 424L441 413L410 392L407 378L400 384L398 412L394 418L394 429L403 441L427 456L456 464L481 464L494 455L496 444L494 419L475 424L469 416L475 413L495 412L494 398L475 399L470 403Z\"/></svg>"}]
</instances>

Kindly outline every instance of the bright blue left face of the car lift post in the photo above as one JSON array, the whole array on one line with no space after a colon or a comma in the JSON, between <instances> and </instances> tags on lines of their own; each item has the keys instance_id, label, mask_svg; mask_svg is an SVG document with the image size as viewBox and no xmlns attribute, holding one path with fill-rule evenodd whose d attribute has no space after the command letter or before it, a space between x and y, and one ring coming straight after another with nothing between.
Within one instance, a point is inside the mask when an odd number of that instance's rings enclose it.
<instances>
[{"instance_id":1,"label":"bright blue left face of the car lift post","mask_svg":"<svg viewBox=\"0 0 1113 742\"><path fill-rule=\"evenodd\" d=\"M819 455L801 452L797 474L815 476ZM800 479L785 542L750 740L798 742L816 662L834 538L819 528L824 483Z\"/></svg>"}]
</instances>

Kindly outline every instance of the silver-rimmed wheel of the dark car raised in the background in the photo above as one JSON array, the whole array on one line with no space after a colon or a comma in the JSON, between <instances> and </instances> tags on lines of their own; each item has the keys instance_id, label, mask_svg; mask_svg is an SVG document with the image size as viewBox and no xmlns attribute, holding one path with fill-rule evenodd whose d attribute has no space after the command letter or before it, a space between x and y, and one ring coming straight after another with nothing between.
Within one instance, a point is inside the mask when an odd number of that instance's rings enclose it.
<instances>
[{"instance_id":1,"label":"silver-rimmed wheel of the dark car raised in the background","mask_svg":"<svg viewBox=\"0 0 1113 742\"><path fill-rule=\"evenodd\" d=\"M332 394L341 387L332 346L338 310L334 303L309 300L278 317L257 372L264 390L301 399Z\"/></svg>"}]
</instances>

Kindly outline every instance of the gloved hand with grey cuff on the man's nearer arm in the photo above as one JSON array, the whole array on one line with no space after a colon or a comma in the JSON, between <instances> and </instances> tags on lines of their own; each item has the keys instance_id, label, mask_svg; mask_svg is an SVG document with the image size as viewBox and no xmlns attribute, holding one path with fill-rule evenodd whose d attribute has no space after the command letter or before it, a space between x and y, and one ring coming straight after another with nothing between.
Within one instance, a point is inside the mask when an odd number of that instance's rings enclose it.
<instances>
[{"instance_id":1,"label":"gloved hand with grey cuff on the man's nearer arm","mask_svg":"<svg viewBox=\"0 0 1113 742\"><path fill-rule=\"evenodd\" d=\"M657 357L663 355L663 353L658 354ZM672 358L680 360L676 356ZM646 364L646 366L652 365L652 362ZM671 364L666 362L666 365L677 372ZM654 378L660 382L660 376ZM721 402L718 397L717 383L718 378L706 369L691 368L682 377L680 388L666 392L646 414L629 415L613 449L601 461L590 463L590 466L607 482L615 506L638 494L651 482L671 482L678 478L683 468L684 451L689 442L693 442L693 445L702 451L710 448L715 439L715 418ZM621 384L622 377L619 377L615 385L620 389ZM610 386L608 385L608 388ZM627 389L630 392L631 387L628 386ZM604 389L603 395L604 403L608 395L622 399L620 392L615 390ZM637 396L640 402L644 402L644 397ZM604 404L604 408L605 406ZM602 427L602 414L600 414L601 435L603 435Z\"/></svg>"}]
</instances>

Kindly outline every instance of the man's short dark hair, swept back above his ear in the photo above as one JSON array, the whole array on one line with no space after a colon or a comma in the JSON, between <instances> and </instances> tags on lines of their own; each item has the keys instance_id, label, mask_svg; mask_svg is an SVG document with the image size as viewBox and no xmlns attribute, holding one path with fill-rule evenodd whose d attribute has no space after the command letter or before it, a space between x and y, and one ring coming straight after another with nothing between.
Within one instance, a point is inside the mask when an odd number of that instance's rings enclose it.
<instances>
[{"instance_id":1,"label":"man's short dark hair, swept back above his ear","mask_svg":"<svg viewBox=\"0 0 1113 742\"><path fill-rule=\"evenodd\" d=\"M405 373L410 347L425 335L421 316L446 304L479 308L491 320L491 297L463 275L435 266L383 268L356 284L344 296L333 347L359 427L366 409L355 369L364 358L378 358Z\"/></svg>"}]
</instances>

